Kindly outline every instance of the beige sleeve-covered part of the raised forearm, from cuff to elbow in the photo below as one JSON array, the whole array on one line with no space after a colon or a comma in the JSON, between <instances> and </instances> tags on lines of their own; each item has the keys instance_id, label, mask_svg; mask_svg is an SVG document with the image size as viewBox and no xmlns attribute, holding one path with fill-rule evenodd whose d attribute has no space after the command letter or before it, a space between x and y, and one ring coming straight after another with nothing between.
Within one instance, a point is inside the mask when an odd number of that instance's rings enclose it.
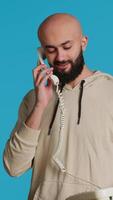
<instances>
[{"instance_id":1,"label":"beige sleeve-covered part of the raised forearm, from cuff to elbow","mask_svg":"<svg viewBox=\"0 0 113 200\"><path fill-rule=\"evenodd\" d=\"M4 163L11 176L18 176L32 166L40 131L23 124L13 133L4 151Z\"/></svg>"}]
</instances>

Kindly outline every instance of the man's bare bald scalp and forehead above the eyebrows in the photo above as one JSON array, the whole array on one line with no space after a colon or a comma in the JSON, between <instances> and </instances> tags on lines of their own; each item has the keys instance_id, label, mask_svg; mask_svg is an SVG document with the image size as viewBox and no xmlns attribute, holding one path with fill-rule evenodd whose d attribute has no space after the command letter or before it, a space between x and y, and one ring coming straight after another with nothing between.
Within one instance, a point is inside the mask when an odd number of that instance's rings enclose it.
<instances>
[{"instance_id":1,"label":"man's bare bald scalp and forehead above the eyebrows","mask_svg":"<svg viewBox=\"0 0 113 200\"><path fill-rule=\"evenodd\" d=\"M72 15L58 13L47 17L38 29L38 37L41 43L47 42L49 39L55 41L56 38L80 37L82 29L79 21ZM60 41L59 41L60 42Z\"/></svg>"}]
</instances>

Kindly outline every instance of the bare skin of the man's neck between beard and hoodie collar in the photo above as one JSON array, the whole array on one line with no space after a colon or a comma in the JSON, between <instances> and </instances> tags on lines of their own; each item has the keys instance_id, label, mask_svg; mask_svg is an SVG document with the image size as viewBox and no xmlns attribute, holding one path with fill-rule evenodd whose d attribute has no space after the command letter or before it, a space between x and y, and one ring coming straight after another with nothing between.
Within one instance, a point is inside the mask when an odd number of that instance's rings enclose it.
<instances>
[{"instance_id":1,"label":"bare skin of the man's neck between beard and hoodie collar","mask_svg":"<svg viewBox=\"0 0 113 200\"><path fill-rule=\"evenodd\" d=\"M74 88L81 80L84 78L93 75L94 72L90 71L86 65L84 65L84 68L82 70L82 73L74 80L69 83L69 85Z\"/></svg>"}]
</instances>

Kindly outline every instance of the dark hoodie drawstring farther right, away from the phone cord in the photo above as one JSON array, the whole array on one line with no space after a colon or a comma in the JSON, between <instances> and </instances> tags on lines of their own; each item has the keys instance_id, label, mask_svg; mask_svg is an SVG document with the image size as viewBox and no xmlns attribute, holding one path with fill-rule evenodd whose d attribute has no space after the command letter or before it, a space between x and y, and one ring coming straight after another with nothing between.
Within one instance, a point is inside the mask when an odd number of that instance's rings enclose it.
<instances>
[{"instance_id":1,"label":"dark hoodie drawstring farther right, away from the phone cord","mask_svg":"<svg viewBox=\"0 0 113 200\"><path fill-rule=\"evenodd\" d=\"M79 94L79 102L78 102L78 121L77 124L80 123L81 118L81 102L82 102L82 95L83 95L83 85L85 83L85 80L82 80L80 83L80 94Z\"/></svg>"}]
</instances>

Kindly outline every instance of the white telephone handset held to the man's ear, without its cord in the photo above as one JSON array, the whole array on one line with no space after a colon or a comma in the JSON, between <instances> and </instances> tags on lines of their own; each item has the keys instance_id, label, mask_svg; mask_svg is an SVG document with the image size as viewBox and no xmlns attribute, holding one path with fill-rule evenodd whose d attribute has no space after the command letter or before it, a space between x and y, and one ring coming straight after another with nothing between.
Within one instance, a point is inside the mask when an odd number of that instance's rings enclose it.
<instances>
[{"instance_id":1,"label":"white telephone handset held to the man's ear, without its cord","mask_svg":"<svg viewBox=\"0 0 113 200\"><path fill-rule=\"evenodd\" d=\"M44 64L45 54L43 48L39 47L37 50L38 50L39 61L41 64ZM51 80L53 81L54 85L59 85L59 79L57 76L51 75Z\"/></svg>"}]
</instances>

